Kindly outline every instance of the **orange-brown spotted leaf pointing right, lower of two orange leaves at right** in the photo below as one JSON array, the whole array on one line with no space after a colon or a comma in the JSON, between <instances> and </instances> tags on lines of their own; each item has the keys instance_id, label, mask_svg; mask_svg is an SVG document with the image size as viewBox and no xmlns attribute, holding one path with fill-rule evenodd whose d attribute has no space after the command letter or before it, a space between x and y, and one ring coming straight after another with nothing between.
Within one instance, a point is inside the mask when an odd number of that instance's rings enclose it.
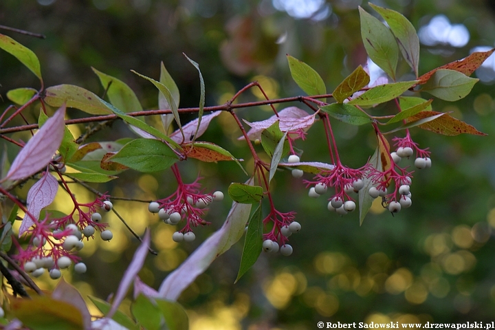
<instances>
[{"instance_id":1,"label":"orange-brown spotted leaf pointing right, lower of two orange leaves at right","mask_svg":"<svg viewBox=\"0 0 495 330\"><path fill-rule=\"evenodd\" d=\"M416 115L408 118L409 122L414 122L416 120L420 120L422 118L431 117L433 115L439 115L441 112L437 111L421 111ZM432 131L434 133L439 133L442 135L454 136L462 133L473 134L473 135L486 135L471 126L470 124L466 124L462 120L456 119L449 115L448 113L444 113L439 118L432 120L430 122L426 122L424 124L418 125L421 129L426 129L426 131Z\"/></svg>"}]
</instances>

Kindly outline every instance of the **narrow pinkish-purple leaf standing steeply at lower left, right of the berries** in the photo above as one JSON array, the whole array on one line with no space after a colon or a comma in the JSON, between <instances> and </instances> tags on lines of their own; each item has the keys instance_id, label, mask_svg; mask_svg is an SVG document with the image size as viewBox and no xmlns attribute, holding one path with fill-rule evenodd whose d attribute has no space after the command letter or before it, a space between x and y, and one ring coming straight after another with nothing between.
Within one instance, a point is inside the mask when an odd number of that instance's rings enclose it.
<instances>
[{"instance_id":1,"label":"narrow pinkish-purple leaf standing steeply at lower left, right of the berries","mask_svg":"<svg viewBox=\"0 0 495 330\"><path fill-rule=\"evenodd\" d=\"M139 246L139 248L137 248L136 252L134 253L133 260L124 272L122 280L120 280L117 293L115 294L115 298L113 299L112 307L107 314L107 318L111 318L113 314L115 314L115 311L117 311L120 303L122 303L122 300L124 300L127 290L131 286L131 283L135 280L137 273L140 272L142 265L144 265L144 259L146 259L146 254L148 254L149 243L150 233L149 230L146 230L141 245Z\"/></svg>"}]
</instances>

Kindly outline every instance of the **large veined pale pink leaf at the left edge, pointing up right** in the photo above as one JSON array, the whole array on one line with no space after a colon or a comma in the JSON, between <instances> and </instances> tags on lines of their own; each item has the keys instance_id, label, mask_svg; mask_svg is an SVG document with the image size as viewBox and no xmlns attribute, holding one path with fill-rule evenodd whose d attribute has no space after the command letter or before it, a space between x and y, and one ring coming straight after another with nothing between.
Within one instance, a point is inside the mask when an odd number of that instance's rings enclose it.
<instances>
[{"instance_id":1,"label":"large veined pale pink leaf at the left edge, pointing up right","mask_svg":"<svg viewBox=\"0 0 495 330\"><path fill-rule=\"evenodd\" d=\"M52 118L48 118L38 133L25 144L12 162L5 179L24 179L47 166L61 145L65 128L64 115L65 105Z\"/></svg>"}]
</instances>

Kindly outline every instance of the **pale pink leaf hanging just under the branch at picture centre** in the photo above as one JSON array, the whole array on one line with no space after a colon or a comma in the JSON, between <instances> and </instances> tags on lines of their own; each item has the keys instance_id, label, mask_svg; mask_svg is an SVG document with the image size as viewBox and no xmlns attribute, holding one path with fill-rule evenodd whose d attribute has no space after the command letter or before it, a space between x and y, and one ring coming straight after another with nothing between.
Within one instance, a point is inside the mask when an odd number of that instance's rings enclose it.
<instances>
[{"instance_id":1,"label":"pale pink leaf hanging just under the branch at picture centre","mask_svg":"<svg viewBox=\"0 0 495 330\"><path fill-rule=\"evenodd\" d=\"M248 137L250 140L261 139L261 132L272 126L274 122L280 120L278 123L278 128L282 132L296 131L298 129L303 129L307 131L311 125L314 124L316 113L308 115L303 109L298 107L288 107L278 112L278 117L272 115L272 117L261 120L261 122L246 122L251 129L248 131ZM290 135L290 134L289 134ZM239 140L243 140L244 137L239 137Z\"/></svg>"}]
</instances>

